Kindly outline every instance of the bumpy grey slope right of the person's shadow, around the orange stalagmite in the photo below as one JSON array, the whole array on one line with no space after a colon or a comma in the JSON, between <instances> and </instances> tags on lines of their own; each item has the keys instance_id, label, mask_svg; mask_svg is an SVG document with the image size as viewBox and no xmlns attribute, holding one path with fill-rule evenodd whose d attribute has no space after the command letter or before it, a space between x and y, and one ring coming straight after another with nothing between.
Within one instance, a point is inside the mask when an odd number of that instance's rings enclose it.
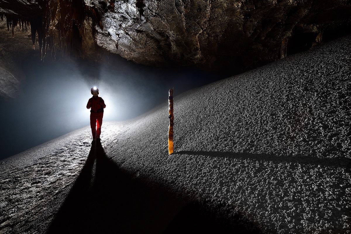
<instances>
[{"instance_id":1,"label":"bumpy grey slope right of the person's shadow, around the orange stalagmite","mask_svg":"<svg viewBox=\"0 0 351 234\"><path fill-rule=\"evenodd\" d=\"M265 233L350 233L350 41L175 96L171 156L165 91L164 107L107 152L135 176L225 201Z\"/></svg>"}]
</instances>

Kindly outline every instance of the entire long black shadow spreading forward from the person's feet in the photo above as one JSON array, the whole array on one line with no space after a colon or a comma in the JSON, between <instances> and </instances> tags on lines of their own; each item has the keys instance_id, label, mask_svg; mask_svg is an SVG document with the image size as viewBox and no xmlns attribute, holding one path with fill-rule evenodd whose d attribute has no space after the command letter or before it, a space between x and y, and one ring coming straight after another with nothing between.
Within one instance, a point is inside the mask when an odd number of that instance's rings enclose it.
<instances>
[{"instance_id":1,"label":"entire long black shadow spreading forward from the person's feet","mask_svg":"<svg viewBox=\"0 0 351 234\"><path fill-rule=\"evenodd\" d=\"M259 233L239 213L234 217L237 224L218 223L214 214L217 209L224 209L223 204L206 208L211 203L205 203L189 203L164 188L151 188L132 179L107 158L100 142L94 142L84 167L46 233L193 233L209 230L232 233L233 228L236 233Z\"/></svg>"}]
</instances>

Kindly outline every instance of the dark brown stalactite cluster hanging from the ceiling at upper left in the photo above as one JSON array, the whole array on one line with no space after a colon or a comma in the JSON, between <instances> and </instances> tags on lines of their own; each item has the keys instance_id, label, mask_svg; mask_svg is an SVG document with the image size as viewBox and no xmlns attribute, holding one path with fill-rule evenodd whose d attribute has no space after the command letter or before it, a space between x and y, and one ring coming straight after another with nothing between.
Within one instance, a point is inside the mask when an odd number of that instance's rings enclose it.
<instances>
[{"instance_id":1,"label":"dark brown stalactite cluster hanging from the ceiling at upper left","mask_svg":"<svg viewBox=\"0 0 351 234\"><path fill-rule=\"evenodd\" d=\"M84 50L82 48L82 36L84 36L85 27L92 27L90 32L94 34L94 27L98 25L102 30L101 15L106 11L114 11L114 0L100 1L93 6L85 5L82 0L46 0L23 4L21 0L13 0L16 4L6 4L12 13L0 15L1 19L6 18L7 30L12 28L14 36L14 27L22 27L27 31L31 29L33 48L35 48L37 35L39 47L42 52L42 58L49 48L55 54L58 51L62 55L71 53L73 48ZM84 24L86 19L91 19L92 24ZM94 37L94 35L93 35ZM74 46L73 46L74 44ZM55 57L55 55L53 55Z\"/></svg>"}]
</instances>

